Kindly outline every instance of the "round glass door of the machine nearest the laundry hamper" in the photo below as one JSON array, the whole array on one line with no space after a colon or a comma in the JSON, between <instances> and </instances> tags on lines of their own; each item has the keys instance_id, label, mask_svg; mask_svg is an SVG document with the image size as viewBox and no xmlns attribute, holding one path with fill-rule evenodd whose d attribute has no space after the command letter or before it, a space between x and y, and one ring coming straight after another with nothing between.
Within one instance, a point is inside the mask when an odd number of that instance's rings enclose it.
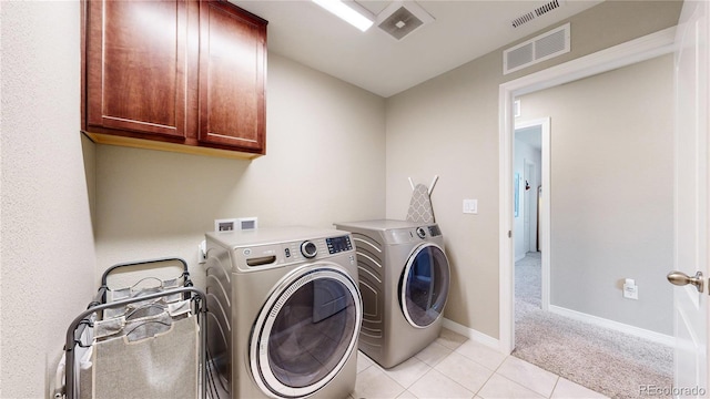
<instances>
[{"instance_id":1,"label":"round glass door of the machine nearest the laundry hamper","mask_svg":"<svg viewBox=\"0 0 710 399\"><path fill-rule=\"evenodd\" d=\"M252 374L276 398L303 397L328 383L357 344L357 285L335 264L308 266L277 285L250 339Z\"/></svg>"}]
</instances>

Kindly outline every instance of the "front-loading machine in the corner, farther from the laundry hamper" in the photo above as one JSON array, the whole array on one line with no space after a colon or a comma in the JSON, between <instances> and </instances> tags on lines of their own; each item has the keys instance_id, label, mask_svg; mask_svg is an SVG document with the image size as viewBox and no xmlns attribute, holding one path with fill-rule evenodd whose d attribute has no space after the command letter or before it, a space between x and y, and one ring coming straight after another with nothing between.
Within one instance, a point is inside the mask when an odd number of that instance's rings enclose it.
<instances>
[{"instance_id":1,"label":"front-loading machine in the corner, farther from the laundry hamper","mask_svg":"<svg viewBox=\"0 0 710 399\"><path fill-rule=\"evenodd\" d=\"M432 344L442 331L450 285L438 225L404 221L336 223L353 233L363 327L359 349L384 368Z\"/></svg>"}]
</instances>

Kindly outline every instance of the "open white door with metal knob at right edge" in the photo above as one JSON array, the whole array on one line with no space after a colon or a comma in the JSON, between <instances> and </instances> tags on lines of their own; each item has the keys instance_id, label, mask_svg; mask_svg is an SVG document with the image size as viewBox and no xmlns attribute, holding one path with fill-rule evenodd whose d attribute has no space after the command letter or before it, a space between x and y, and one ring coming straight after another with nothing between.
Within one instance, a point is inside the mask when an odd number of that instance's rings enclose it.
<instances>
[{"instance_id":1,"label":"open white door with metal knob at right edge","mask_svg":"<svg viewBox=\"0 0 710 399\"><path fill-rule=\"evenodd\" d=\"M708 0L686 1L676 37L676 270L702 273L674 288L673 396L708 392ZM671 276L669 275L669 279ZM683 283L676 274L676 283ZM686 280L688 282L688 280Z\"/></svg>"}]
</instances>

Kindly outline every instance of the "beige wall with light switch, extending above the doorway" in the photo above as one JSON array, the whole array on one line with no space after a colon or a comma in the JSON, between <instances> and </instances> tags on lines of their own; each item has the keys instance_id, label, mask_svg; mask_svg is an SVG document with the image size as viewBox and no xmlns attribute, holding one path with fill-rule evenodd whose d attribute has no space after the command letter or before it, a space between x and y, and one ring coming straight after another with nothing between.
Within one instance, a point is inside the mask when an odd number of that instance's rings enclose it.
<instances>
[{"instance_id":1,"label":"beige wall with light switch, extending above the doorway","mask_svg":"<svg viewBox=\"0 0 710 399\"><path fill-rule=\"evenodd\" d=\"M446 318L499 337L498 239L507 233L498 225L499 85L673 27L681 4L605 1L559 23L571 23L571 51L565 55L504 76L503 50L516 44L510 43L387 99L386 215L405 217L408 176L428 182L439 175L432 201L453 268ZM477 215L462 213L464 198L478 200Z\"/></svg>"}]
</instances>

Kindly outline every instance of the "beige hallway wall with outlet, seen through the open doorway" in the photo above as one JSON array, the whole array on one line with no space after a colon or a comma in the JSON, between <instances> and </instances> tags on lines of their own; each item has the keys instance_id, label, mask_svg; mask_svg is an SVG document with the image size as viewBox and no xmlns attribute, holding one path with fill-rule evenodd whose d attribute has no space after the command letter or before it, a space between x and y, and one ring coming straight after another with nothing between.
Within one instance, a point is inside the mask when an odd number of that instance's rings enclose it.
<instances>
[{"instance_id":1,"label":"beige hallway wall with outlet, seen through the open doorway","mask_svg":"<svg viewBox=\"0 0 710 399\"><path fill-rule=\"evenodd\" d=\"M520 104L521 120L551 119L551 305L672 335L672 55Z\"/></svg>"}]
</instances>

